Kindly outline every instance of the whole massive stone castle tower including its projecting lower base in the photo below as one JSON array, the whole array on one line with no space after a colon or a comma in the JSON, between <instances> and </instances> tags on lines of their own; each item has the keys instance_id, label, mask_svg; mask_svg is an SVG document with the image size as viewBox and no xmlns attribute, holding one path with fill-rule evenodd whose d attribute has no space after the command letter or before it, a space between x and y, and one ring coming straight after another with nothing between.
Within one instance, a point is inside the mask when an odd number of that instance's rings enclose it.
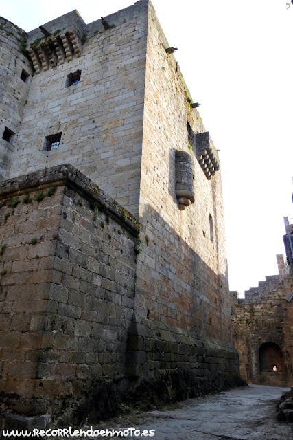
<instances>
[{"instance_id":1,"label":"whole massive stone castle tower including its projecting lower base","mask_svg":"<svg viewBox=\"0 0 293 440\"><path fill-rule=\"evenodd\" d=\"M0 33L5 409L220 389L239 373L220 162L152 4Z\"/></svg>"}]
</instances>

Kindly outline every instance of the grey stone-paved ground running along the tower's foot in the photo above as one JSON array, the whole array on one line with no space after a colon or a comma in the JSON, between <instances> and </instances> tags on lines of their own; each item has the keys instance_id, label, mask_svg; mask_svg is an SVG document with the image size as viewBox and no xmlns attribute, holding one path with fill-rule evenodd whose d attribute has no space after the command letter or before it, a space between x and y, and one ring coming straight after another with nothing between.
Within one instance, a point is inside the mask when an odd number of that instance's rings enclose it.
<instances>
[{"instance_id":1,"label":"grey stone-paved ground running along the tower's foot","mask_svg":"<svg viewBox=\"0 0 293 440\"><path fill-rule=\"evenodd\" d=\"M113 419L95 429L117 429L117 426L120 429L135 426L141 432L155 429L152 438L156 440L291 440L292 423L279 423L275 417L283 389L252 385L189 399L172 409ZM95 437L105 438L110 437Z\"/></svg>"}]
</instances>

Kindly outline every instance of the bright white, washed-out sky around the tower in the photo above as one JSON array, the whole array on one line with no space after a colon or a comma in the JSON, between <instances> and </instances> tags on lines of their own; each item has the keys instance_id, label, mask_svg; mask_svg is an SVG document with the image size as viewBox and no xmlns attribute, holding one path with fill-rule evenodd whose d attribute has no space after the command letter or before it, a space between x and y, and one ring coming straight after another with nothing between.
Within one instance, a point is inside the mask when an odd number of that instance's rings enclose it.
<instances>
[{"instance_id":1,"label":"bright white, washed-out sky around the tower","mask_svg":"<svg viewBox=\"0 0 293 440\"><path fill-rule=\"evenodd\" d=\"M0 14L30 31L73 9L90 23L133 3L12 0ZM286 0L152 3L220 150L229 281L243 292L277 274L283 217L293 218L293 6Z\"/></svg>"}]
</instances>

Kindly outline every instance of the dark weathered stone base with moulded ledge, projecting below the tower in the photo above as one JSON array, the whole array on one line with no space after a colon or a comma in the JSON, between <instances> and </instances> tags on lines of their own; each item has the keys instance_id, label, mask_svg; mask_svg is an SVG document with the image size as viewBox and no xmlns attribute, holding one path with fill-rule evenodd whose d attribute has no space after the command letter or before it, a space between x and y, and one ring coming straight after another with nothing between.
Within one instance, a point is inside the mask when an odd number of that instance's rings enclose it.
<instances>
[{"instance_id":1,"label":"dark weathered stone base with moulded ledge, projecting below the tower","mask_svg":"<svg viewBox=\"0 0 293 440\"><path fill-rule=\"evenodd\" d=\"M119 396L145 395L145 382L161 381L162 399L176 399L235 380L230 343L137 316L139 223L78 170L5 181L0 214L4 408L58 418L66 405L70 420L102 399L88 414L95 418ZM187 383L178 388L180 371L191 375L192 393Z\"/></svg>"}]
</instances>

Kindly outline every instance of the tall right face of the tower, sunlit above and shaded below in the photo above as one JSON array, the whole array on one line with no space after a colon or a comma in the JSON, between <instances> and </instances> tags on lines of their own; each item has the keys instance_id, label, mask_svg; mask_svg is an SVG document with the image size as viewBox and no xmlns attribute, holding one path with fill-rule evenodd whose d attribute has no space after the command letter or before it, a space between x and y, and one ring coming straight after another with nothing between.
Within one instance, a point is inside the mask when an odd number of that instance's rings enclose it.
<instances>
[{"instance_id":1,"label":"tall right face of the tower, sunlit above and shaded below","mask_svg":"<svg viewBox=\"0 0 293 440\"><path fill-rule=\"evenodd\" d=\"M204 126L150 4L145 80L137 313L180 329L230 340L224 215L220 171L205 177L191 148L187 121ZM211 142L212 145L212 142ZM191 149L189 149L191 148ZM194 162L195 201L180 210L176 150ZM213 237L210 236L210 217Z\"/></svg>"}]
</instances>

